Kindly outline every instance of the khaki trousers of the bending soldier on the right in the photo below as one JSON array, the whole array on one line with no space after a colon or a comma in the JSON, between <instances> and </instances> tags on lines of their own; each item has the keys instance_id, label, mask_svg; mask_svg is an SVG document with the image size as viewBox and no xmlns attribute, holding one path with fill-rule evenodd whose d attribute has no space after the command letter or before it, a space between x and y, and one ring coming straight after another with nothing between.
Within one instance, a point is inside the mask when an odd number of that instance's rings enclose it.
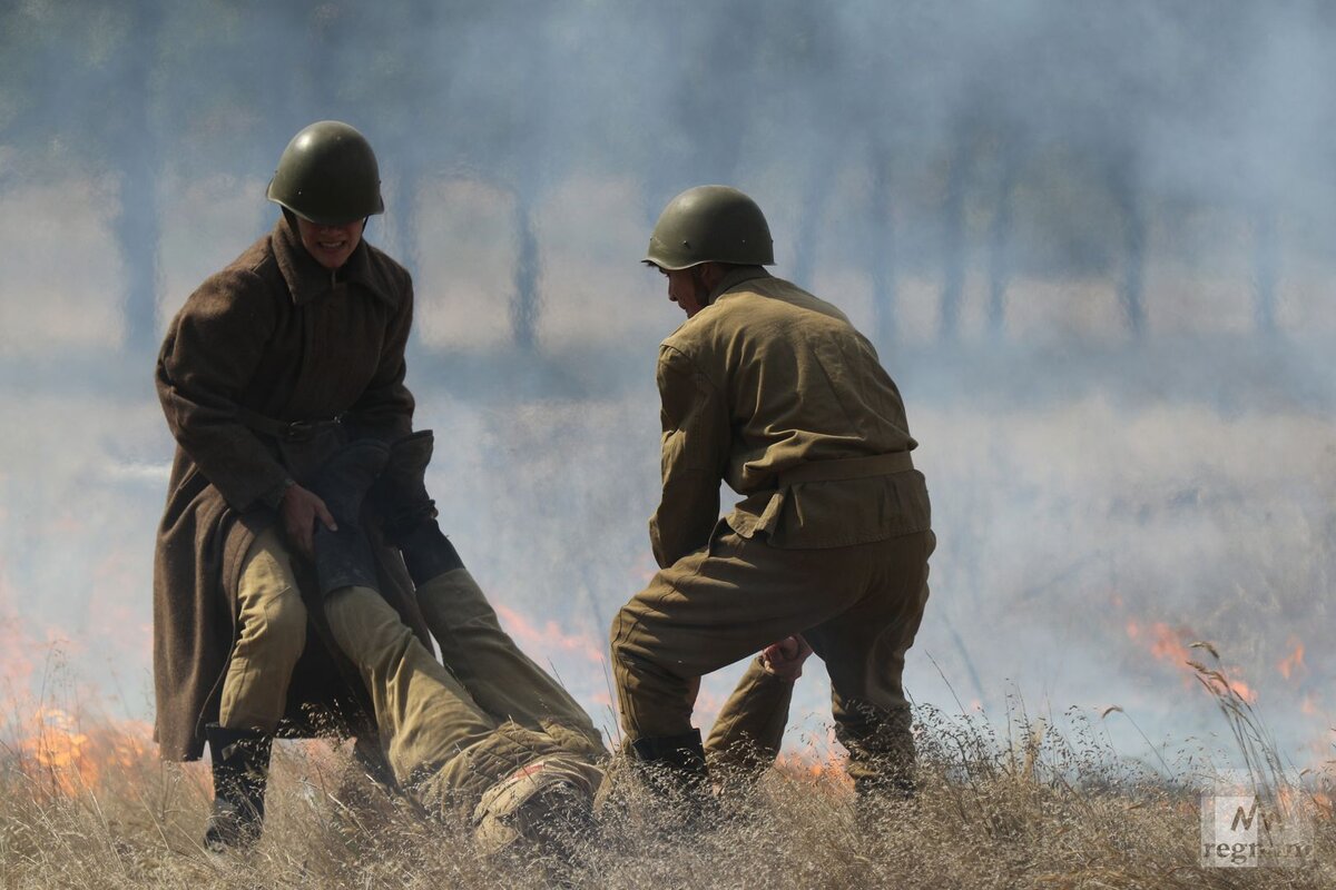
<instances>
[{"instance_id":1,"label":"khaki trousers of the bending soldier on the right","mask_svg":"<svg viewBox=\"0 0 1336 890\"><path fill-rule=\"evenodd\" d=\"M912 759L904 652L927 602L931 531L827 550L782 550L720 523L705 550L659 571L612 626L627 735L691 730L700 678L790 634L826 663L836 735L855 781Z\"/></svg>"}]
</instances>

